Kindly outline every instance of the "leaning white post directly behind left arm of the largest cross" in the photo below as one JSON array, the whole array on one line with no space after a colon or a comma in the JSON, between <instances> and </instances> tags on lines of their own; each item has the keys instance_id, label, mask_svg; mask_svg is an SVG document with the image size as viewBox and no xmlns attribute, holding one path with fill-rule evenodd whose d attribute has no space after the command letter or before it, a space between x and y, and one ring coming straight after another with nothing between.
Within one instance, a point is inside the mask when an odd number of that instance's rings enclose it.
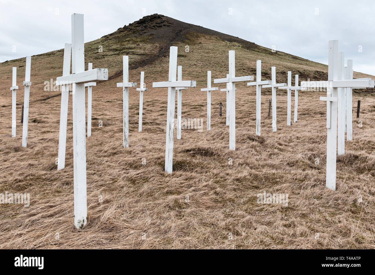
<instances>
[{"instance_id":1,"label":"leaning white post directly behind left arm of the largest cross","mask_svg":"<svg viewBox=\"0 0 375 275\"><path fill-rule=\"evenodd\" d=\"M72 54L72 44L65 43L63 75L70 74L71 54ZM61 91L60 130L58 134L57 170L63 169L65 167L66 125L68 122L68 101L69 101L69 85L66 85L62 87L62 91Z\"/></svg>"}]
</instances>

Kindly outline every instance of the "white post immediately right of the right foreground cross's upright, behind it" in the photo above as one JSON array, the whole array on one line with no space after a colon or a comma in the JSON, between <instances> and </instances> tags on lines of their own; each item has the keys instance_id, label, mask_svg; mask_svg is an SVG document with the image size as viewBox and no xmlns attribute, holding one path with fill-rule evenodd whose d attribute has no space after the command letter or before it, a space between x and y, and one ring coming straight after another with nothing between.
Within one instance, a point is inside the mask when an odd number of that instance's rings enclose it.
<instances>
[{"instance_id":1,"label":"white post immediately right of the right foreground cross's upright, behind it","mask_svg":"<svg viewBox=\"0 0 375 275\"><path fill-rule=\"evenodd\" d=\"M344 52L339 53L338 80L344 75ZM338 88L337 154L345 154L345 88Z\"/></svg>"}]
</instances>

